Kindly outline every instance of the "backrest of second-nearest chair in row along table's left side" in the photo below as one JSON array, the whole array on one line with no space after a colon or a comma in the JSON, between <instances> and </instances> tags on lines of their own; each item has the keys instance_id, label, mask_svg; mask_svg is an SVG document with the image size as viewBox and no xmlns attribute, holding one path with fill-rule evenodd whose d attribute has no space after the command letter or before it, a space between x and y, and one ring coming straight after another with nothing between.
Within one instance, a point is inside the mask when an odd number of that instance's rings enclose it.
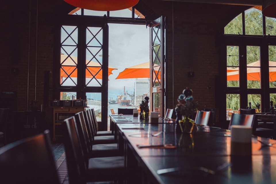
<instances>
[{"instance_id":1,"label":"backrest of second-nearest chair in row along table's left side","mask_svg":"<svg viewBox=\"0 0 276 184\"><path fill-rule=\"evenodd\" d=\"M75 120L76 120L79 139L81 142L81 147L83 148L83 155L85 158L88 159L88 154L92 148L89 144L88 132L87 132L83 112L76 113Z\"/></svg>"}]
</instances>

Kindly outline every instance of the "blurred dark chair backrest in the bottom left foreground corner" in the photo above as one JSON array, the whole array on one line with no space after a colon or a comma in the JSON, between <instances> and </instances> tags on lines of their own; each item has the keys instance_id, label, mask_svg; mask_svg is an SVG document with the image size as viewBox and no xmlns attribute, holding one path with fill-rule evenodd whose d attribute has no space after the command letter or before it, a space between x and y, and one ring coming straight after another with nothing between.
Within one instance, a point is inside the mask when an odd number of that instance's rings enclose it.
<instances>
[{"instance_id":1,"label":"blurred dark chair backrest in the bottom left foreground corner","mask_svg":"<svg viewBox=\"0 0 276 184\"><path fill-rule=\"evenodd\" d=\"M1 183L58 184L49 130L0 148Z\"/></svg>"}]
</instances>

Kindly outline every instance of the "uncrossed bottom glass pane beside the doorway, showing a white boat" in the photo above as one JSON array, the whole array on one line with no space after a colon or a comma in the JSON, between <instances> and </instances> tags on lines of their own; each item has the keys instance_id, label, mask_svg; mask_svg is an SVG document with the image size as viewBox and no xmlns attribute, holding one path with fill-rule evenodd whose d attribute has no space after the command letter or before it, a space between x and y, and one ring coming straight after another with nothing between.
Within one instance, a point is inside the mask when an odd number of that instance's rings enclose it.
<instances>
[{"instance_id":1,"label":"uncrossed bottom glass pane beside the doorway, showing a white boat","mask_svg":"<svg viewBox=\"0 0 276 184\"><path fill-rule=\"evenodd\" d=\"M94 109L96 120L101 121L101 93L86 93L87 109Z\"/></svg>"}]
</instances>

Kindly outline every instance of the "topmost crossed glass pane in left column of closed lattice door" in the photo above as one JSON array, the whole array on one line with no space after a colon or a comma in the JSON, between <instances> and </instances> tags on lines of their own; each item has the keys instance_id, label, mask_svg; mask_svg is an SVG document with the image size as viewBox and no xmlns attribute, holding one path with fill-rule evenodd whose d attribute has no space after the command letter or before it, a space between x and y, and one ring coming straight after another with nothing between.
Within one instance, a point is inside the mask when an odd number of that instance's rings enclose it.
<instances>
[{"instance_id":1,"label":"topmost crossed glass pane in left column of closed lattice door","mask_svg":"<svg viewBox=\"0 0 276 184\"><path fill-rule=\"evenodd\" d=\"M62 45L77 45L78 28L76 26L62 26L60 43Z\"/></svg>"}]
</instances>

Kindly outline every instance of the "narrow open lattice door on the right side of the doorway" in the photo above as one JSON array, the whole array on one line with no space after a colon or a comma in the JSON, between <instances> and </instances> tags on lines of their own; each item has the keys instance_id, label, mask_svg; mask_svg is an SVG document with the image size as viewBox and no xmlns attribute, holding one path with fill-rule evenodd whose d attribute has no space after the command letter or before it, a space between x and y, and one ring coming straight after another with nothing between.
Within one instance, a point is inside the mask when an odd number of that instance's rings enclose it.
<instances>
[{"instance_id":1,"label":"narrow open lattice door on the right side of the doorway","mask_svg":"<svg viewBox=\"0 0 276 184\"><path fill-rule=\"evenodd\" d=\"M164 23L162 16L150 22L150 109L151 111L157 111L160 116L164 115L165 107Z\"/></svg>"}]
</instances>

